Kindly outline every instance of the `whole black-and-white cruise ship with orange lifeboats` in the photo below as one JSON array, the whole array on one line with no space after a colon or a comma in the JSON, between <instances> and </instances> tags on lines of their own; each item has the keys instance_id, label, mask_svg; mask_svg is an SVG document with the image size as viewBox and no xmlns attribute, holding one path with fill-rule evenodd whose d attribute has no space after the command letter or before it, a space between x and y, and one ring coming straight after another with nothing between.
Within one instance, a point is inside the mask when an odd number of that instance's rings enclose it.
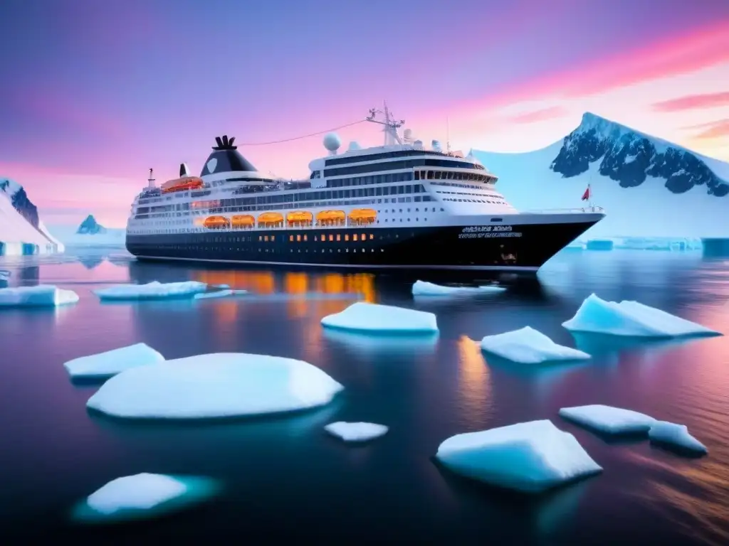
<instances>
[{"instance_id":1,"label":"whole black-and-white cruise ship with orange lifeboats","mask_svg":"<svg viewBox=\"0 0 729 546\"><path fill-rule=\"evenodd\" d=\"M199 176L182 164L157 187L150 169L127 249L141 260L536 272L604 218L593 206L520 212L472 153L427 148L410 130L401 138L387 106L362 121L383 126L383 146L340 151L330 132L305 180L261 173L227 135Z\"/></svg>"}]
</instances>

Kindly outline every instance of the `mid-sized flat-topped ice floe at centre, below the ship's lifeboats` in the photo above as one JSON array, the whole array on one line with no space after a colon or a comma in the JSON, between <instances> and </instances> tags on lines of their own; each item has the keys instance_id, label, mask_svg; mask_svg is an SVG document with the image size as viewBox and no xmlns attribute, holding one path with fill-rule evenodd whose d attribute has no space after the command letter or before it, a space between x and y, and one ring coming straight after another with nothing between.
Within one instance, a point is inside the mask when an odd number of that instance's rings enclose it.
<instances>
[{"instance_id":1,"label":"mid-sized flat-topped ice floe at centre, below the ship's lifeboats","mask_svg":"<svg viewBox=\"0 0 729 546\"><path fill-rule=\"evenodd\" d=\"M343 311L329 314L321 324L343 330L381 333L432 333L438 331L433 313L394 307L391 305L366 304L358 301Z\"/></svg>"}]
</instances>

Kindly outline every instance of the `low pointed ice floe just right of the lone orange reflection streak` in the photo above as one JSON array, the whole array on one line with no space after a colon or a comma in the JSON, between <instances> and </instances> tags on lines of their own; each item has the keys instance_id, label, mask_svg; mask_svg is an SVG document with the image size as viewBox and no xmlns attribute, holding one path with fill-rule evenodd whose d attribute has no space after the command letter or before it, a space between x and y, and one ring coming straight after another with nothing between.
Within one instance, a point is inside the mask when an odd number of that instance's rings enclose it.
<instances>
[{"instance_id":1,"label":"low pointed ice floe just right of the lone orange reflection streak","mask_svg":"<svg viewBox=\"0 0 729 546\"><path fill-rule=\"evenodd\" d=\"M486 336L481 340L481 350L523 364L590 358L586 352L558 345L529 326L521 330Z\"/></svg>"}]
</instances>

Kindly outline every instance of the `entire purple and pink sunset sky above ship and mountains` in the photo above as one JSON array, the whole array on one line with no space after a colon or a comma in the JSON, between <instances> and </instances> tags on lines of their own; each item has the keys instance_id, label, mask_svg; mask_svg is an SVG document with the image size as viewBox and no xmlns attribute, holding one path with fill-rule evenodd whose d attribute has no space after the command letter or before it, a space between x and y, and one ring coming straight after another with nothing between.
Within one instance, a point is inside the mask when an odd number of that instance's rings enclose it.
<instances>
[{"instance_id":1,"label":"entire purple and pink sunset sky above ship and mountains","mask_svg":"<svg viewBox=\"0 0 729 546\"><path fill-rule=\"evenodd\" d=\"M256 144L364 119L383 98L417 138L449 138L453 149L541 149L590 111L729 161L725 2L667 0L655 12L627 0L589 7L467 0L443 27L457 55L423 46L421 29L443 26L435 1L416 12L384 0L367 7L312 0L305 12L281 0L257 10L219 3L229 15L222 20L184 0L0 7L15 23L7 47L14 53L0 69L17 76L0 89L0 177L26 187L44 223L77 224L93 214L104 226L124 226L149 167L157 183L175 178L181 162L198 173L222 134L235 136L262 172L308 178L308 163L326 154L321 135ZM397 41L409 47L380 45L381 30L367 25L380 4L392 20L408 22ZM228 40L240 17L251 22L250 36ZM499 25L489 25L494 19ZM26 20L52 31L31 41ZM326 27L327 39L312 39L308 25ZM195 28L197 39L179 39L179 28ZM343 149L349 141L381 144L374 124L337 132Z\"/></svg>"}]
</instances>

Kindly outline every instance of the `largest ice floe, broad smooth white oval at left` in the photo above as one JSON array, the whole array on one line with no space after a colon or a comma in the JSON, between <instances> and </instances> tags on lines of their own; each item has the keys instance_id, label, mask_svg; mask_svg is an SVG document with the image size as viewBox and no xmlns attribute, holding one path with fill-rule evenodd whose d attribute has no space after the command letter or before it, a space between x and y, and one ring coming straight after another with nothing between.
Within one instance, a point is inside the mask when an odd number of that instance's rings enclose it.
<instances>
[{"instance_id":1,"label":"largest ice floe, broad smooth white oval at left","mask_svg":"<svg viewBox=\"0 0 729 546\"><path fill-rule=\"evenodd\" d=\"M87 407L129 419L214 419L315 408L344 387L292 358L214 353L122 371Z\"/></svg>"}]
</instances>

